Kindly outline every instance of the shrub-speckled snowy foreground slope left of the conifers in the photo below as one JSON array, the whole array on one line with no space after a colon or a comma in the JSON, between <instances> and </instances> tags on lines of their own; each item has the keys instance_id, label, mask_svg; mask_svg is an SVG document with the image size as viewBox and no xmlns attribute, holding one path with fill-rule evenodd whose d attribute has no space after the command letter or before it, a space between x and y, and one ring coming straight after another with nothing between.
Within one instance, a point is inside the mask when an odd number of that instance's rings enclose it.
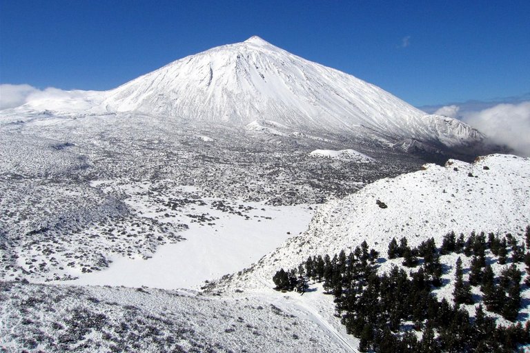
<instances>
[{"instance_id":1,"label":"shrub-speckled snowy foreground slope left of the conifers","mask_svg":"<svg viewBox=\"0 0 530 353\"><path fill-rule=\"evenodd\" d=\"M351 352L311 310L267 297L0 282L2 352Z\"/></svg>"}]
</instances>

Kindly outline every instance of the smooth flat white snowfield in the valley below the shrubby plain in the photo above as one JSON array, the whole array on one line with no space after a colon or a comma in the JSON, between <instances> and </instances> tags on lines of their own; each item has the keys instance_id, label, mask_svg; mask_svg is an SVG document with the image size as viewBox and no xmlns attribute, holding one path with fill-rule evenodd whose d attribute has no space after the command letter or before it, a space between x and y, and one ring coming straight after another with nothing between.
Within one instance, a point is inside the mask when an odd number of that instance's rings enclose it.
<instances>
[{"instance_id":1,"label":"smooth flat white snowfield in the valley below the shrubby plain","mask_svg":"<svg viewBox=\"0 0 530 353\"><path fill-rule=\"evenodd\" d=\"M179 233L186 240L162 245L150 259L116 256L110 268L79 274L79 279L69 283L199 289L204 281L246 268L289 237L300 234L313 216L306 205L246 205L255 208L248 213L249 219L196 205L197 212L209 212L219 219L210 226L191 223L190 229Z\"/></svg>"}]
</instances>

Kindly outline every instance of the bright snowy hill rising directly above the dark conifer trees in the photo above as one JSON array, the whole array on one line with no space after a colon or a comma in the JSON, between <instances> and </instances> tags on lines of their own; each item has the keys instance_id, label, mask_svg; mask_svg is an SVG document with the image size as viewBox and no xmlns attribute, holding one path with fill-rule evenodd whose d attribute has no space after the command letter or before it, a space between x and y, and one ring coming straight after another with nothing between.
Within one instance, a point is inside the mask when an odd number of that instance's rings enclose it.
<instances>
[{"instance_id":1,"label":"bright snowy hill rising directly above the dark conifer trees","mask_svg":"<svg viewBox=\"0 0 530 353\"><path fill-rule=\"evenodd\" d=\"M304 234L288 239L228 283L273 286L272 276L280 268L295 268L310 255L353 250L364 240L384 256L393 237L406 236L411 246L434 237L440 246L451 230L522 236L530 225L529 197L530 159L492 154L471 164L451 160L445 167L425 165L322 205ZM377 200L388 208L380 208Z\"/></svg>"}]
</instances>

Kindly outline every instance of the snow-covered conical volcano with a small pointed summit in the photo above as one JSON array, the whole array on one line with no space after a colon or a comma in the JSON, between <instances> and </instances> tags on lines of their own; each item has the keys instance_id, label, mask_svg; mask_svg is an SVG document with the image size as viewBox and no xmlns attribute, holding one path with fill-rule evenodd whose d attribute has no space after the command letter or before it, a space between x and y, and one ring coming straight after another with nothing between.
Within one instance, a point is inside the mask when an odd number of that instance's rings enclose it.
<instances>
[{"instance_id":1,"label":"snow-covered conical volcano with a small pointed summit","mask_svg":"<svg viewBox=\"0 0 530 353\"><path fill-rule=\"evenodd\" d=\"M415 140L454 147L483 138L458 120L426 115L375 85L259 37L174 61L110 90L103 105L111 112L237 126L268 120L388 143Z\"/></svg>"}]
</instances>

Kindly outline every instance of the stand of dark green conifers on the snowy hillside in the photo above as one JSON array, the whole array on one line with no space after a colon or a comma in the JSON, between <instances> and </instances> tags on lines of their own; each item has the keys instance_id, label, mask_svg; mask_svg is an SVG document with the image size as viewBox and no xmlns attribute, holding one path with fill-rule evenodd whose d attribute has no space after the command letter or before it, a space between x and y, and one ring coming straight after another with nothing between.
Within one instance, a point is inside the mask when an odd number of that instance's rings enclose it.
<instances>
[{"instance_id":1,"label":"stand of dark green conifers on the snowy hillside","mask_svg":"<svg viewBox=\"0 0 530 353\"><path fill-rule=\"evenodd\" d=\"M442 281L449 270L440 263L440 256L449 254L458 254L452 305L432 292L449 284ZM377 263L384 259L366 241L349 254L343 250L333 257L309 256L297 268L276 272L275 289L304 292L308 281L323 283L326 294L334 297L336 315L346 332L360 339L362 352L513 352L530 343L530 321L524 327L520 322L502 326L487 314L518 319L522 273L516 264L526 264L524 285L530 285L530 226L524 243L511 234L500 238L471 232L465 237L450 232L440 248L432 238L416 248L406 238L399 243L392 239L387 255L402 258L403 267L378 274ZM464 256L471 257L469 281L464 281ZM505 265L499 276L491 268L494 262ZM473 296L472 286L482 296ZM479 305L472 318L464 305L475 301Z\"/></svg>"}]
</instances>

